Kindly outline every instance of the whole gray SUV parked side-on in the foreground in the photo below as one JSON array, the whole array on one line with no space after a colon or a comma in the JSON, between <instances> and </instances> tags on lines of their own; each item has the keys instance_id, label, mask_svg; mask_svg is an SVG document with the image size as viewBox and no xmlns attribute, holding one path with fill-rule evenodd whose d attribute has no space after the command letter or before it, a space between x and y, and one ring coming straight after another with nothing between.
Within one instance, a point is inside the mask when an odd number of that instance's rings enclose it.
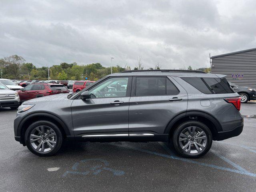
<instances>
[{"instance_id":1,"label":"whole gray SUV parked side-on in the foreground","mask_svg":"<svg viewBox=\"0 0 256 192\"><path fill-rule=\"evenodd\" d=\"M178 154L200 157L212 140L243 129L240 97L224 75L188 70L124 71L84 90L24 102L15 140L39 156L64 140L171 142Z\"/></svg>"}]
</instances>

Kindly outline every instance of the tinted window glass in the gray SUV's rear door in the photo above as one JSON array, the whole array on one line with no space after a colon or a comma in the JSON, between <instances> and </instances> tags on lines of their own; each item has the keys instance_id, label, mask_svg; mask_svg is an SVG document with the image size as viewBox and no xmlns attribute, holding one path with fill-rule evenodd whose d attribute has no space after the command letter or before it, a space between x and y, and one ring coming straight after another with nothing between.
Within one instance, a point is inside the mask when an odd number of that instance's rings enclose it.
<instances>
[{"instance_id":1,"label":"tinted window glass in the gray SUV's rear door","mask_svg":"<svg viewBox=\"0 0 256 192\"><path fill-rule=\"evenodd\" d=\"M179 90L166 77L136 77L135 96L176 95Z\"/></svg>"}]
</instances>

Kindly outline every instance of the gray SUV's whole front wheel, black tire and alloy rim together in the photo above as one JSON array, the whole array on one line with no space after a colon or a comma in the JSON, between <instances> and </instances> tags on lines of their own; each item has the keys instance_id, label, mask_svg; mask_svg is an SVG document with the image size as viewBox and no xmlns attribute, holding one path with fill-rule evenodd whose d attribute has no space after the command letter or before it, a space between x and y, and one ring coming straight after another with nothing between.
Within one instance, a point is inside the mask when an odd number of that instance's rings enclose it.
<instances>
[{"instance_id":1,"label":"gray SUV's whole front wheel, black tire and alloy rim together","mask_svg":"<svg viewBox=\"0 0 256 192\"><path fill-rule=\"evenodd\" d=\"M54 123L40 120L32 123L25 132L28 149L38 156L51 156L58 152L63 136Z\"/></svg>"}]
</instances>

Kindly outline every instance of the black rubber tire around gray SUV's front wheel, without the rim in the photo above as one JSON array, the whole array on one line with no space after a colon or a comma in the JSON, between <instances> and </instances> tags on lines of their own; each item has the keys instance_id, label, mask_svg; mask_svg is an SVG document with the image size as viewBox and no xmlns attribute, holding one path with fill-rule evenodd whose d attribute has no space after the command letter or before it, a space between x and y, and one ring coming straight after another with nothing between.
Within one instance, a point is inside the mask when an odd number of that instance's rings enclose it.
<instances>
[{"instance_id":1,"label":"black rubber tire around gray SUV's front wheel, without the rim","mask_svg":"<svg viewBox=\"0 0 256 192\"><path fill-rule=\"evenodd\" d=\"M48 126L48 127L52 128L54 130L54 132L56 133L56 139L57 139L56 146L54 146L54 148L48 152L40 152L40 151L36 150L30 143L30 134L38 126ZM62 142L63 142L63 135L62 135L62 132L60 131L60 128L58 128L58 126L56 126L54 123L52 123L50 121L46 121L46 120L36 121L36 122L32 123L25 132L25 143L26 143L27 148L32 153L34 153L38 156L52 156L53 154L58 152L58 150L62 146Z\"/></svg>"}]
</instances>

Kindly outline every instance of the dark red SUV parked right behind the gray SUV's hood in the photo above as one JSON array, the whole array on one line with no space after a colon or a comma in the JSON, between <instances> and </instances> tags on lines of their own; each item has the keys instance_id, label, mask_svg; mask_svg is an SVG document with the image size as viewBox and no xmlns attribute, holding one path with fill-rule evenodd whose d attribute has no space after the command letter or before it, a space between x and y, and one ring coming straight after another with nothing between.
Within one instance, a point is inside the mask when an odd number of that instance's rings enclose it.
<instances>
[{"instance_id":1,"label":"dark red SUV parked right behind the gray SUV's hood","mask_svg":"<svg viewBox=\"0 0 256 192\"><path fill-rule=\"evenodd\" d=\"M69 90L62 84L34 83L17 92L20 96L20 101L23 102L37 97L69 93Z\"/></svg>"}]
</instances>

